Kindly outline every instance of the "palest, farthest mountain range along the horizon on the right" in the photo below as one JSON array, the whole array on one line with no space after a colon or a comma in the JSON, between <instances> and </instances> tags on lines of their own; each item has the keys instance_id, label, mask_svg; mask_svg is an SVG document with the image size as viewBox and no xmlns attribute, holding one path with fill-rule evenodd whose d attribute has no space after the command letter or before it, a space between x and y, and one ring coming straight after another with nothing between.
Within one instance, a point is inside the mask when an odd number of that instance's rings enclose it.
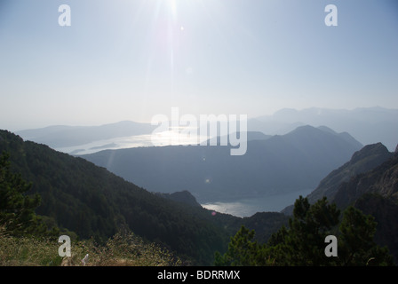
<instances>
[{"instance_id":1,"label":"palest, farthest mountain range along the horizon on the right","mask_svg":"<svg viewBox=\"0 0 398 284\"><path fill-rule=\"evenodd\" d=\"M296 110L283 108L273 115L248 121L248 130L268 135L285 134L300 125L326 125L337 132L348 132L362 145L383 143L394 151L398 143L398 109L363 107L353 110L320 107Z\"/></svg>"}]
</instances>

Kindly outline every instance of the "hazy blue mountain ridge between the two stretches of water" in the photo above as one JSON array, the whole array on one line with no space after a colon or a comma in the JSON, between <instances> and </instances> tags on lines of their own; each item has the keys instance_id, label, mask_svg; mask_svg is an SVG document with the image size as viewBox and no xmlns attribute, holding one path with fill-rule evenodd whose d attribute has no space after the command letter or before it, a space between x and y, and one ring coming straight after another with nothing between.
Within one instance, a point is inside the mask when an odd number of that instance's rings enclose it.
<instances>
[{"instance_id":1,"label":"hazy blue mountain ridge between the two stretches of water","mask_svg":"<svg viewBox=\"0 0 398 284\"><path fill-rule=\"evenodd\" d=\"M81 157L154 192L187 190L200 202L235 201L312 188L362 147L327 127L257 137L242 156L231 156L229 146L162 146Z\"/></svg>"}]
</instances>

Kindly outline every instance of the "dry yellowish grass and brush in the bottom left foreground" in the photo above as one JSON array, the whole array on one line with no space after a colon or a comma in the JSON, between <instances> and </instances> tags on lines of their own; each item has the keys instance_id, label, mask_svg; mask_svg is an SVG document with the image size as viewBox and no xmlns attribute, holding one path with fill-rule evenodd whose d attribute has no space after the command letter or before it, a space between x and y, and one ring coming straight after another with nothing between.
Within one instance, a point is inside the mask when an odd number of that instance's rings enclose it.
<instances>
[{"instance_id":1,"label":"dry yellowish grass and brush in the bottom left foreground","mask_svg":"<svg viewBox=\"0 0 398 284\"><path fill-rule=\"evenodd\" d=\"M174 266L178 257L154 243L142 241L133 233L117 233L105 245L94 241L71 244L72 256L58 254L58 240L17 238L7 235L0 227L0 265L2 266Z\"/></svg>"}]
</instances>

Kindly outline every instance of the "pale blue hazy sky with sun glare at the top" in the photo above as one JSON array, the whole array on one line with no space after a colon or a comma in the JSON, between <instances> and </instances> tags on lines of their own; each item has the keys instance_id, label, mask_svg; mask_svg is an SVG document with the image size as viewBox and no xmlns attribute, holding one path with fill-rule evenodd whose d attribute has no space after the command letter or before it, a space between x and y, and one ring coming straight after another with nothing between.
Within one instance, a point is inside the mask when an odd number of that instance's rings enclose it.
<instances>
[{"instance_id":1,"label":"pale blue hazy sky with sun glare at the top","mask_svg":"<svg viewBox=\"0 0 398 284\"><path fill-rule=\"evenodd\" d=\"M397 79L396 0L0 0L0 129L398 108Z\"/></svg>"}]
</instances>

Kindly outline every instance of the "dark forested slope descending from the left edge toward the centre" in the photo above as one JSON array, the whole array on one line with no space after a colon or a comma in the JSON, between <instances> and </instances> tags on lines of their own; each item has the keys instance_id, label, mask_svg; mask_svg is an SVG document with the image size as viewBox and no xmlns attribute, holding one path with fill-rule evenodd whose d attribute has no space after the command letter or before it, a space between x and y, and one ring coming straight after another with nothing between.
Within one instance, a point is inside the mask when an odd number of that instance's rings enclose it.
<instances>
[{"instance_id":1,"label":"dark forested slope descending from the left edge toward the centre","mask_svg":"<svg viewBox=\"0 0 398 284\"><path fill-rule=\"evenodd\" d=\"M80 238L106 240L127 225L199 264L211 264L214 251L225 248L227 230L201 216L211 216L210 211L187 210L91 162L24 142L7 131L0 131L3 151L10 153L12 168L33 183L32 193L40 193L37 214Z\"/></svg>"}]
</instances>

